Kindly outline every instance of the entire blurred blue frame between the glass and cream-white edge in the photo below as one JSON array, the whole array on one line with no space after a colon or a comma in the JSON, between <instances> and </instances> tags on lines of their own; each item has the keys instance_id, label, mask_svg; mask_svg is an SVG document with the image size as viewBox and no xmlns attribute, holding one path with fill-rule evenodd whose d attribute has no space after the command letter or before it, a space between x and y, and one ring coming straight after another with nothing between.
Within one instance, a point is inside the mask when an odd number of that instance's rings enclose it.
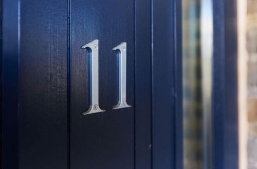
<instances>
[{"instance_id":1,"label":"entire blurred blue frame between the glass and cream-white edge","mask_svg":"<svg viewBox=\"0 0 257 169\"><path fill-rule=\"evenodd\" d=\"M213 1L214 168L238 168L236 2Z\"/></svg>"}]
</instances>

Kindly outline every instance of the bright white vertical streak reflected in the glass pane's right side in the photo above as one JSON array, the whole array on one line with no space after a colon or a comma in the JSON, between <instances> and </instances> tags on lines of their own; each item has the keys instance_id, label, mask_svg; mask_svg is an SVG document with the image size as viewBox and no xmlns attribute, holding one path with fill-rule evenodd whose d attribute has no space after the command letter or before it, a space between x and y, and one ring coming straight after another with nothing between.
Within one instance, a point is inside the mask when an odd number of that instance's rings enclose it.
<instances>
[{"instance_id":1,"label":"bright white vertical streak reflected in the glass pane's right side","mask_svg":"<svg viewBox=\"0 0 257 169\"><path fill-rule=\"evenodd\" d=\"M201 72L204 121L204 168L212 168L212 0L201 1Z\"/></svg>"}]
</instances>

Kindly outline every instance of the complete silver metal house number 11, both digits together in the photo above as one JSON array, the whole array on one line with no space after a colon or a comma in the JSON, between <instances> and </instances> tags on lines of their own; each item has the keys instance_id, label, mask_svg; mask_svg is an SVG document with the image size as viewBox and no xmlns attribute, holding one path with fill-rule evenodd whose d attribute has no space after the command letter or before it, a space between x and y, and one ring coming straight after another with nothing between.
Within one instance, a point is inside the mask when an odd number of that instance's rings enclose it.
<instances>
[{"instance_id":1,"label":"complete silver metal house number 11, both digits together","mask_svg":"<svg viewBox=\"0 0 257 169\"><path fill-rule=\"evenodd\" d=\"M90 53L90 106L89 109L83 113L92 114L104 112L99 107L99 41L98 39L81 47L82 49L89 49ZM113 50L119 51L119 100L118 104L113 109L122 109L131 107L126 103L126 43L122 43Z\"/></svg>"}]
</instances>

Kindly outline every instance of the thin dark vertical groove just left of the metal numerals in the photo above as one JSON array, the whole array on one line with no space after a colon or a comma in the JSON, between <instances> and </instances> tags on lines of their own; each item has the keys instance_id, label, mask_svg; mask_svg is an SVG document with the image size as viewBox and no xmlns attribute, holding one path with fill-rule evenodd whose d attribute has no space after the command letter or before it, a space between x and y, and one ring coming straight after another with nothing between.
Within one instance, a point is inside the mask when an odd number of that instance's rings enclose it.
<instances>
[{"instance_id":1,"label":"thin dark vertical groove just left of the metal numerals","mask_svg":"<svg viewBox=\"0 0 257 169\"><path fill-rule=\"evenodd\" d=\"M70 2L67 0L67 169L70 169Z\"/></svg>"}]
</instances>

